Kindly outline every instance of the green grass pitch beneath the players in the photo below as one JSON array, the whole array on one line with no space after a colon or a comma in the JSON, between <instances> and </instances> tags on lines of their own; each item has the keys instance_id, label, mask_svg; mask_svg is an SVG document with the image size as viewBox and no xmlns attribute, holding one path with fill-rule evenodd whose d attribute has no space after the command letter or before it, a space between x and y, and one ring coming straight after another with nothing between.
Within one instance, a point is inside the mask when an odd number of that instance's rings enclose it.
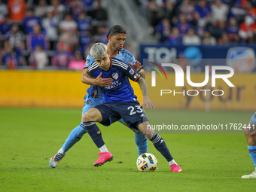
<instances>
[{"instance_id":1,"label":"green grass pitch beneath the players","mask_svg":"<svg viewBox=\"0 0 256 192\"><path fill-rule=\"evenodd\" d=\"M180 125L248 123L253 111L146 113ZM159 170L139 172L134 133L114 123L99 127L113 161L93 167L99 150L85 135L50 168L50 157L80 121L80 109L0 108L0 191L254 191L255 180L241 178L254 169L242 134L162 134L184 172L170 172L151 142Z\"/></svg>"}]
</instances>

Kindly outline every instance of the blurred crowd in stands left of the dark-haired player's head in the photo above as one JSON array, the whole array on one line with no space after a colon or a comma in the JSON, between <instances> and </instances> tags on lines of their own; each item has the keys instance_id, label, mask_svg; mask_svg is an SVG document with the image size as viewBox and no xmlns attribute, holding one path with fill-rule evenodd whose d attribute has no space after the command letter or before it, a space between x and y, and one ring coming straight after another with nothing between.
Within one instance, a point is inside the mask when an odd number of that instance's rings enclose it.
<instances>
[{"instance_id":1,"label":"blurred crowd in stands left of the dark-haired player's head","mask_svg":"<svg viewBox=\"0 0 256 192\"><path fill-rule=\"evenodd\" d=\"M107 22L100 0L0 0L0 66L81 70Z\"/></svg>"}]
</instances>

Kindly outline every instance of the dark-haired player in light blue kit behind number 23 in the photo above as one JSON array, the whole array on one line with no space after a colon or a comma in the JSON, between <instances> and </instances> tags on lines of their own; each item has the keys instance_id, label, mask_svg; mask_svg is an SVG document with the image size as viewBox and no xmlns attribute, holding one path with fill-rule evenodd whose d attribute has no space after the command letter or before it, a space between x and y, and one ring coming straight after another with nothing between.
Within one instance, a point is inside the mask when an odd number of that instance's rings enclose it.
<instances>
[{"instance_id":1,"label":"dark-haired player in light blue kit behind number 23","mask_svg":"<svg viewBox=\"0 0 256 192\"><path fill-rule=\"evenodd\" d=\"M117 25L112 26L107 36L107 47L108 50L110 50L111 52L111 56L121 59L123 62L126 62L127 65L129 65L130 62L131 65L133 64L132 66L134 67L134 69L144 75L145 73L142 69L142 66L140 66L140 63L135 60L133 54L130 53L128 50L123 49L123 44L126 40L126 31L123 29L123 27ZM87 74L87 72L88 67L93 63L96 62L89 54L87 56L87 60L84 66L82 82L84 84L91 84L96 86L90 86L90 88L87 89L87 95L84 96L84 108L82 114L87 112L90 108L102 104L102 91L99 86L109 86L113 81L112 78L101 78L101 75L99 75L99 77L97 77L96 79L91 78L90 75ZM126 123L122 119L120 119L119 121L120 123L126 125ZM148 150L147 138L139 130L134 131L138 154L140 155L147 152ZM76 142L80 141L85 133L87 133L87 131L84 129L84 123L80 123L80 125L75 127L75 129L72 130L72 132L69 134L69 137L62 145L62 148L60 148L59 151L50 158L49 165L52 168L55 168L58 165L59 161L62 160L62 158L66 155L66 152L69 151L69 149L72 148L72 146L75 145Z\"/></svg>"}]
</instances>

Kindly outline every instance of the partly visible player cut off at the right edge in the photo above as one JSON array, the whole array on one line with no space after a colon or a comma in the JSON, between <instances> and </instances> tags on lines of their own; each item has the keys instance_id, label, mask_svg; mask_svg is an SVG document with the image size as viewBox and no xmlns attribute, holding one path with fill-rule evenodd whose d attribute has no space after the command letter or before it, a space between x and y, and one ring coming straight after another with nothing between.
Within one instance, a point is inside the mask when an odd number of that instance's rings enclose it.
<instances>
[{"instance_id":1,"label":"partly visible player cut off at the right edge","mask_svg":"<svg viewBox=\"0 0 256 192\"><path fill-rule=\"evenodd\" d=\"M242 175L242 178L256 178L256 112L252 115L248 126L245 129L245 137L248 144L248 151L254 163L255 170L250 175Z\"/></svg>"}]
</instances>

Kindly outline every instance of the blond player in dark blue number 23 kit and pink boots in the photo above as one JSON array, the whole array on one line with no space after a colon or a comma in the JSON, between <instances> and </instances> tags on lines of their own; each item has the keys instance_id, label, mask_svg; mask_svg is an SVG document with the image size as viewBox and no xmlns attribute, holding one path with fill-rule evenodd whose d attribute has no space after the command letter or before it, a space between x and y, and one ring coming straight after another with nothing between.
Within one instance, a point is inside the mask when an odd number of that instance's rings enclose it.
<instances>
[{"instance_id":1,"label":"blond player in dark blue number 23 kit and pink boots","mask_svg":"<svg viewBox=\"0 0 256 192\"><path fill-rule=\"evenodd\" d=\"M100 150L99 159L93 165L101 166L113 159L113 155L108 151L102 139L102 133L95 122L109 126L111 123L123 118L131 129L140 130L151 140L154 147L168 161L172 172L182 172L182 169L170 154L164 140L154 130L151 130L148 118L137 101L137 96L134 95L133 87L131 87L128 80L130 78L132 81L139 83L142 90L143 105L154 108L153 102L148 99L147 84L144 78L120 59L110 57L105 44L94 44L90 50L90 55L96 62L89 67L89 74L93 78L101 75L102 78L113 79L110 86L101 87L103 104L90 108L89 111L82 115L81 121L84 123L85 130L87 130L87 133L89 133Z\"/></svg>"}]
</instances>

